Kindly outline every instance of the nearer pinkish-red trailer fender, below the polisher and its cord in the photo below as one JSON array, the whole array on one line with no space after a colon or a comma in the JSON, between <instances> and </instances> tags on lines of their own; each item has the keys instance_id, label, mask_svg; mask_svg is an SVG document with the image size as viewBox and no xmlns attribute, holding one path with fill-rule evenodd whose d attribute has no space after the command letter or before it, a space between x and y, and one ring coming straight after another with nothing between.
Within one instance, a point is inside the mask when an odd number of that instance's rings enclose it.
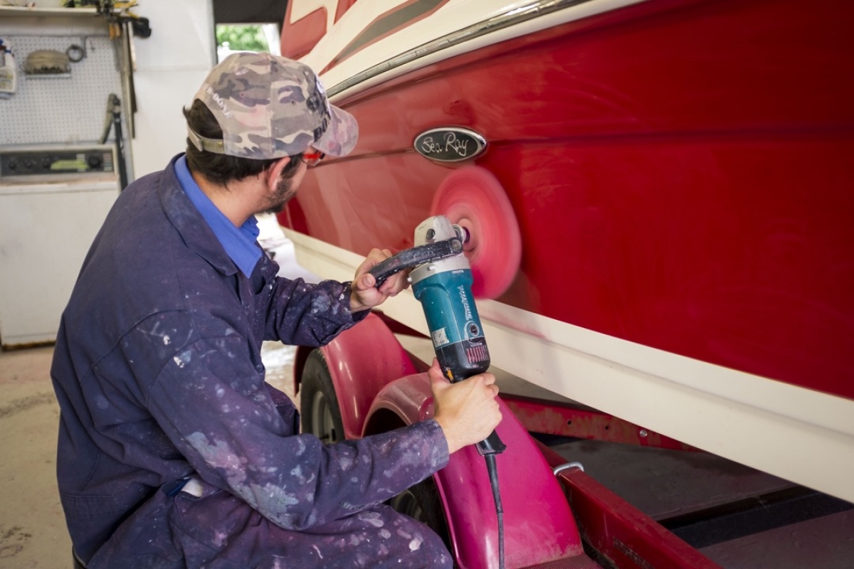
<instances>
[{"instance_id":1,"label":"nearer pinkish-red trailer fender, below the polisher and its cord","mask_svg":"<svg viewBox=\"0 0 854 569\"><path fill-rule=\"evenodd\" d=\"M583 556L581 537L564 491L534 439L503 401L496 429L507 450L496 459L504 510L506 566L526 567ZM433 415L427 374L395 380L377 394L365 434ZM454 557L460 566L488 569L498 551L497 516L483 456L474 446L458 450L433 477L442 498Z\"/></svg>"}]
</instances>

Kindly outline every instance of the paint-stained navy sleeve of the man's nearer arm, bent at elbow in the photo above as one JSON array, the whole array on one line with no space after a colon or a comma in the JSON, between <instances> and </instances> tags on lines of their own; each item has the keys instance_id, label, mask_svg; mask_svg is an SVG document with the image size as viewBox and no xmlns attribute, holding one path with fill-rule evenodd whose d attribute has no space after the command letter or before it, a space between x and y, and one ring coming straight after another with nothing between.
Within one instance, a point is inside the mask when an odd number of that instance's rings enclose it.
<instances>
[{"instance_id":1,"label":"paint-stained navy sleeve of the man's nearer arm, bent at elbow","mask_svg":"<svg viewBox=\"0 0 854 569\"><path fill-rule=\"evenodd\" d=\"M209 484L303 530L384 502L447 464L436 421L325 446L285 425L234 336L178 351L147 407Z\"/></svg>"}]
</instances>

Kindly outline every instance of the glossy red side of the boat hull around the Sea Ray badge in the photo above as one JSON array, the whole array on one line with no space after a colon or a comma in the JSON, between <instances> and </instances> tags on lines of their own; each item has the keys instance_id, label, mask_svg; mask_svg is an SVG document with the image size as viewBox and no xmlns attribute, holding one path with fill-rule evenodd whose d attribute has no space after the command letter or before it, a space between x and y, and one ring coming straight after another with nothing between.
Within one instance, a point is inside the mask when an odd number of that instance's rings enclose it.
<instances>
[{"instance_id":1,"label":"glossy red side of the boat hull around the Sea Ray badge","mask_svg":"<svg viewBox=\"0 0 854 569\"><path fill-rule=\"evenodd\" d=\"M410 246L448 173L413 137L465 126L522 229L502 302L854 398L854 5L826 4L643 3L363 92L296 229Z\"/></svg>"}]
</instances>

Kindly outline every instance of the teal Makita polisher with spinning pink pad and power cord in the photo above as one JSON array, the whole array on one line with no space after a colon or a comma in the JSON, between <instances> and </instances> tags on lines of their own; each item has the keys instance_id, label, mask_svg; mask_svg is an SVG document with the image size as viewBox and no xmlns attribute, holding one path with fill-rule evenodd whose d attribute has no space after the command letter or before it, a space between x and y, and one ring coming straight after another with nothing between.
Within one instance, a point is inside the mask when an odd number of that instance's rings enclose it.
<instances>
[{"instance_id":1,"label":"teal Makita polisher with spinning pink pad and power cord","mask_svg":"<svg viewBox=\"0 0 854 569\"><path fill-rule=\"evenodd\" d=\"M512 284L522 240L510 201L487 170L465 166L436 191L431 212L415 229L415 247L370 272L380 287L389 276L411 270L412 293L424 309L442 373L452 382L489 369L490 357L475 296L497 298ZM500 567L504 531L495 455L506 449L493 432L477 444L487 462L499 520Z\"/></svg>"}]
</instances>

